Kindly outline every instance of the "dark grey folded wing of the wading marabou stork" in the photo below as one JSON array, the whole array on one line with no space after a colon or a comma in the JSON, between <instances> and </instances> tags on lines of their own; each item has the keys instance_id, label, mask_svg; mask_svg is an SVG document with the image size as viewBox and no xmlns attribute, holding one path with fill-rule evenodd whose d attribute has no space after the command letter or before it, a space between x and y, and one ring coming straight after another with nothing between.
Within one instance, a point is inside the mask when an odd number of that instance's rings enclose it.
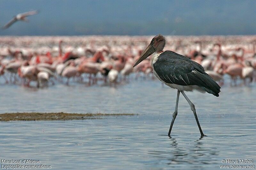
<instances>
[{"instance_id":1,"label":"dark grey folded wing of the wading marabou stork","mask_svg":"<svg viewBox=\"0 0 256 170\"><path fill-rule=\"evenodd\" d=\"M154 63L154 70L166 83L182 86L197 85L206 92L219 96L220 86L200 66L190 59L161 54Z\"/></svg>"}]
</instances>

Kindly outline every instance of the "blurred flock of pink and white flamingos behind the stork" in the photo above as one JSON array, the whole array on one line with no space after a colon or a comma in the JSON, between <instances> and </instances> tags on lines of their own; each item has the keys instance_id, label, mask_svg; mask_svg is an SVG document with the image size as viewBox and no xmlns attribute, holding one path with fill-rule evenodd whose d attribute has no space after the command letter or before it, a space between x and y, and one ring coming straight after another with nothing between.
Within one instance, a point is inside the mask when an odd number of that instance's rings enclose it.
<instances>
[{"instance_id":1,"label":"blurred flock of pink and white flamingos behind the stork","mask_svg":"<svg viewBox=\"0 0 256 170\"><path fill-rule=\"evenodd\" d=\"M1 84L48 87L71 81L116 86L130 74L154 78L150 57L132 68L152 36L0 37ZM165 49L204 67L220 85L256 81L256 36L167 36ZM225 76L227 77L227 76Z\"/></svg>"}]
</instances>

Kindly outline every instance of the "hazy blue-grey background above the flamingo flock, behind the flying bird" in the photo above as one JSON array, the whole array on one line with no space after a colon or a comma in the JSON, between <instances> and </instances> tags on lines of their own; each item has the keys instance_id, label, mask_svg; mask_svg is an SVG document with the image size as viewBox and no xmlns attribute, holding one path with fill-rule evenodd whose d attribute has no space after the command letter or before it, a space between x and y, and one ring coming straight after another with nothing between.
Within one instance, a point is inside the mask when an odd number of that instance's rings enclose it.
<instances>
[{"instance_id":1,"label":"hazy blue-grey background above the flamingo flock, behind the flying bird","mask_svg":"<svg viewBox=\"0 0 256 170\"><path fill-rule=\"evenodd\" d=\"M255 35L255 0L0 0L1 35Z\"/></svg>"}]
</instances>

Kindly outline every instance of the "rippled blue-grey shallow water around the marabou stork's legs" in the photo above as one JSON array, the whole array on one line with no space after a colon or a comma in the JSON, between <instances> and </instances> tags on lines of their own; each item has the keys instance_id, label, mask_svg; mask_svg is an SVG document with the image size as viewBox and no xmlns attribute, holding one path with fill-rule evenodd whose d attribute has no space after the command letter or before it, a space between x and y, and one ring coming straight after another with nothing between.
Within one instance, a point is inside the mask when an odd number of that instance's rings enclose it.
<instances>
[{"instance_id":1,"label":"rippled blue-grey shallow water around the marabou stork's legs","mask_svg":"<svg viewBox=\"0 0 256 170\"><path fill-rule=\"evenodd\" d=\"M222 159L256 161L256 84L224 85L220 97L187 92L207 137L176 90L138 80L117 88L1 85L0 113L138 113L103 120L0 122L0 159L34 159L52 169L220 169ZM32 165L32 164L31 164ZM229 164L234 165L234 164ZM253 165L253 164L235 164Z\"/></svg>"}]
</instances>

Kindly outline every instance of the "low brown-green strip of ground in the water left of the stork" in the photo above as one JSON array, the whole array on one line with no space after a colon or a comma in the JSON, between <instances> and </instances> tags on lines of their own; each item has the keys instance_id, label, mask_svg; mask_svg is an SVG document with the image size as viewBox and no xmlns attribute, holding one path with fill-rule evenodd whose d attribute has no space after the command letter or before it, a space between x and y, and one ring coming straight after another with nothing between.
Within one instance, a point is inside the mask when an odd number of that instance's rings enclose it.
<instances>
[{"instance_id":1,"label":"low brown-green strip of ground in the water left of the stork","mask_svg":"<svg viewBox=\"0 0 256 170\"><path fill-rule=\"evenodd\" d=\"M133 116L133 113L40 113L40 112L22 112L22 113L3 113L0 114L0 121L11 120L84 120L84 119L103 119L105 116Z\"/></svg>"}]
</instances>

